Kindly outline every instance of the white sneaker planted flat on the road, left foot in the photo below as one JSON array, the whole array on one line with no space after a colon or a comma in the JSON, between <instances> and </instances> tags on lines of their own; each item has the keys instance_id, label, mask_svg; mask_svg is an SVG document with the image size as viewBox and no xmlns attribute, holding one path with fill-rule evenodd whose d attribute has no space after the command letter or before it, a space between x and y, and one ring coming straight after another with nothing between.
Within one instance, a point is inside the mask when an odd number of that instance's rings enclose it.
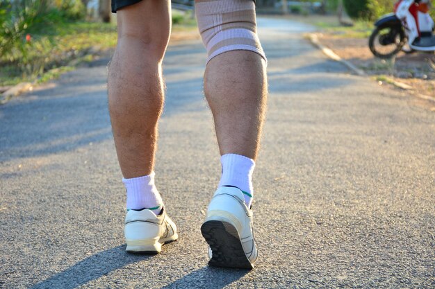
<instances>
[{"instance_id":1,"label":"white sneaker planted flat on the road, left foot","mask_svg":"<svg viewBox=\"0 0 435 289\"><path fill-rule=\"evenodd\" d=\"M177 227L164 207L157 216L149 209L129 210L125 216L124 235L127 252L150 254L161 252L162 244L178 238Z\"/></svg>"}]
</instances>

